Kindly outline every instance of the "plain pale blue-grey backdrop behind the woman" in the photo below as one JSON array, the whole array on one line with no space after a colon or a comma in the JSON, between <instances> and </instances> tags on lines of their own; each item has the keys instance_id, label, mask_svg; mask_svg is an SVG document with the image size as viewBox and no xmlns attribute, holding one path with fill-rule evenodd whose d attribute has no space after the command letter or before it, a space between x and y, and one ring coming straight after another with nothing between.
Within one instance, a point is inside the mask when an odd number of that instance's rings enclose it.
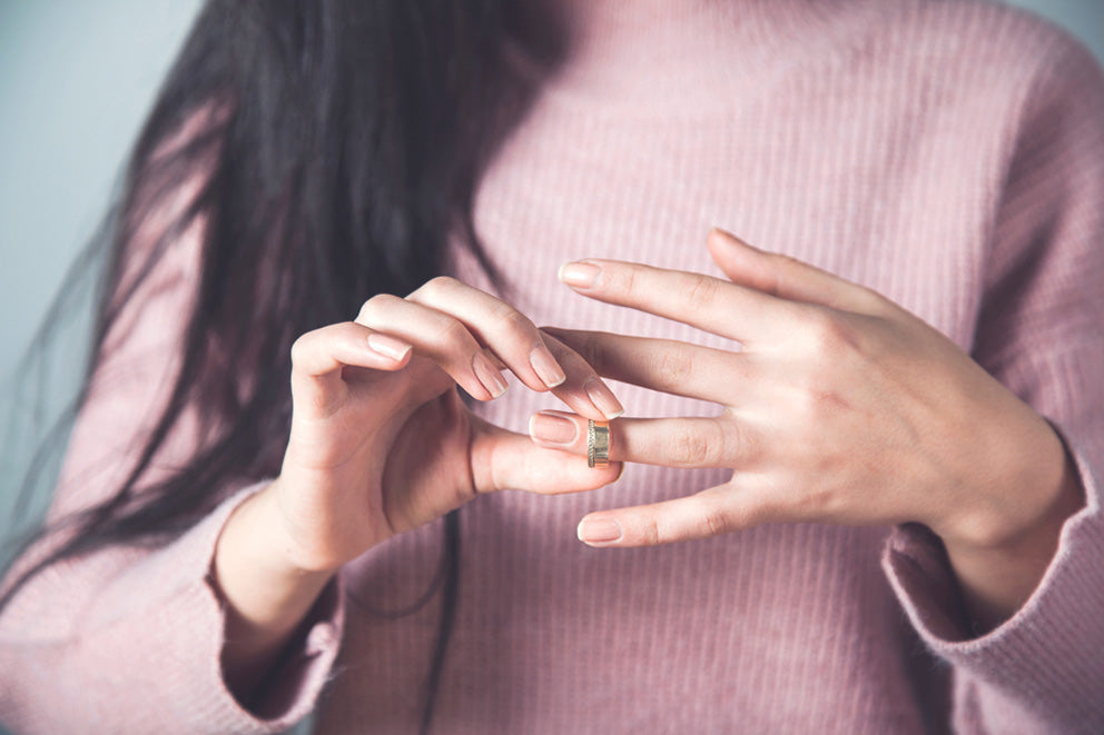
<instances>
[{"instance_id":1,"label":"plain pale blue-grey backdrop behind the woman","mask_svg":"<svg viewBox=\"0 0 1104 735\"><path fill-rule=\"evenodd\" d=\"M1104 0L1019 1L1104 59ZM0 410L17 359L93 232L198 0L0 0ZM67 395L87 320L49 378ZM17 398L18 399L18 398ZM0 414L3 415L3 414ZM9 454L11 447L9 447ZM10 459L10 458L9 458ZM0 465L0 519L11 466ZM7 478L6 478L7 477Z\"/></svg>"}]
</instances>

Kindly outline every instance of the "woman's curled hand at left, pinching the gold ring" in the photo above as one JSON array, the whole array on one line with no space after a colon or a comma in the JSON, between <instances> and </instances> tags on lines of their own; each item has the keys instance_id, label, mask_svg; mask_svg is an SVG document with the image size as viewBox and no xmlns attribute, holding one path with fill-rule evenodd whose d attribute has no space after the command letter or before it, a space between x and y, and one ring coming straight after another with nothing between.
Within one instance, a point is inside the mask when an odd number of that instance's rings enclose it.
<instances>
[{"instance_id":1,"label":"woman's curled hand at left, pinching the gold ring","mask_svg":"<svg viewBox=\"0 0 1104 735\"><path fill-rule=\"evenodd\" d=\"M275 496L288 560L332 570L480 493L601 487L592 469L472 414L506 388L500 367L594 419L621 405L574 351L493 296L435 278L408 297L381 295L354 321L292 348L292 429Z\"/></svg>"}]
</instances>

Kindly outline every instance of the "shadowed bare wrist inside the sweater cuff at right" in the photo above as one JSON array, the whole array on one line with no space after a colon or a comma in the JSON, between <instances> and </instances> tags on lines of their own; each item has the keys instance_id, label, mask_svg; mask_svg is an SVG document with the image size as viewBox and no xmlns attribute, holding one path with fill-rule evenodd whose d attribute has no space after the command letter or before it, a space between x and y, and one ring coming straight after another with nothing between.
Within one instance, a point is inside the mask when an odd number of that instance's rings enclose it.
<instances>
[{"instance_id":1,"label":"shadowed bare wrist inside the sweater cuff at right","mask_svg":"<svg viewBox=\"0 0 1104 735\"><path fill-rule=\"evenodd\" d=\"M1058 444L1061 470L1037 523L994 544L944 539L977 633L997 627L1027 602L1054 559L1063 524L1085 505L1073 461Z\"/></svg>"}]
</instances>

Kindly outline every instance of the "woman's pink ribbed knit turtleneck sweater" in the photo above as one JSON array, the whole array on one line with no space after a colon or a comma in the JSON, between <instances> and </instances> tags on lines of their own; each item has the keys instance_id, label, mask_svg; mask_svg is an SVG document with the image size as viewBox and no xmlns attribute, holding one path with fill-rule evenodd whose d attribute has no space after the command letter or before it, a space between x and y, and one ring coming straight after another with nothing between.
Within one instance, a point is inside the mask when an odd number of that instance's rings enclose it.
<instances>
[{"instance_id":1,"label":"woman's pink ribbed knit turtleneck sweater","mask_svg":"<svg viewBox=\"0 0 1104 735\"><path fill-rule=\"evenodd\" d=\"M550 0L551 1L551 0ZM571 43L493 162L476 224L538 324L721 341L556 282L586 256L717 272L712 225L891 297L1065 438L1086 507L1029 602L972 636L923 528L778 525L635 550L588 510L718 470L632 466L601 490L461 510L441 733L1104 732L1104 76L1068 37L978 1L555 0ZM53 515L107 491L175 364L195 240L112 335ZM456 258L461 277L483 285ZM631 415L708 405L617 386ZM524 430L549 396L483 413ZM177 437L177 451L189 439ZM164 461L171 464L171 457ZM159 550L58 565L0 617L20 733L412 732L441 524L346 565L247 712L219 672L208 574L229 511ZM31 556L24 557L23 563Z\"/></svg>"}]
</instances>

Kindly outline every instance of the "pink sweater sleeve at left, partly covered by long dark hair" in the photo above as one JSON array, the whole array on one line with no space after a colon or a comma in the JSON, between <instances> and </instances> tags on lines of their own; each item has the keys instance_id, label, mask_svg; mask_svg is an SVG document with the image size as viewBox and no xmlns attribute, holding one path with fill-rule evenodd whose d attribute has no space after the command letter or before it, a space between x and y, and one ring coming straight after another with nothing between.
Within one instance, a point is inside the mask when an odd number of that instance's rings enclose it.
<instances>
[{"instance_id":1,"label":"pink sweater sleeve at left, partly covered by long dark hair","mask_svg":"<svg viewBox=\"0 0 1104 735\"><path fill-rule=\"evenodd\" d=\"M50 518L106 498L130 469L177 369L199 231L197 224L172 241L107 335ZM191 456L199 436L188 417L155 457L151 476ZM262 485L217 488L217 508L160 548L114 546L33 576L0 615L0 722L16 733L272 733L304 717L338 652L339 576L248 709L220 668L215 544L230 513ZM51 534L28 549L3 588L60 540Z\"/></svg>"}]
</instances>

